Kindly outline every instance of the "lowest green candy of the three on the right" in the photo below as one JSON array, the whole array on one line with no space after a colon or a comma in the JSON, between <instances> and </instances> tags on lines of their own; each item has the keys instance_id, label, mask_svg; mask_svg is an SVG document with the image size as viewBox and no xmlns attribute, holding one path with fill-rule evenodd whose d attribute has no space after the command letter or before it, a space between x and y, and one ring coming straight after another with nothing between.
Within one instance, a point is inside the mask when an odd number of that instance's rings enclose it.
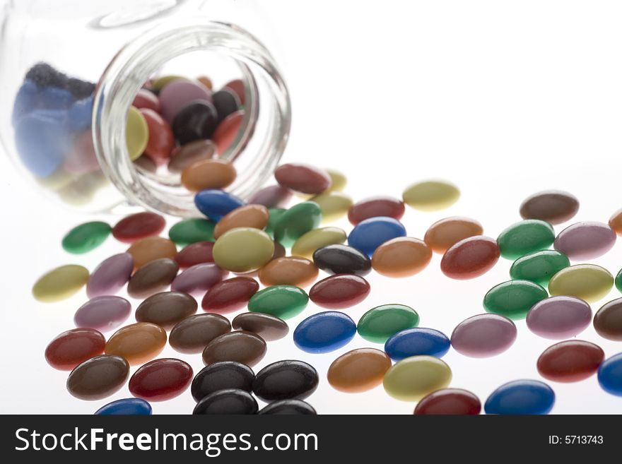
<instances>
[{"instance_id":1,"label":"lowest green candy of the three on the right","mask_svg":"<svg viewBox=\"0 0 622 464\"><path fill-rule=\"evenodd\" d=\"M540 285L529 280L508 280L495 285L483 297L483 307L489 313L510 319L524 319L529 309L548 297Z\"/></svg>"}]
</instances>

